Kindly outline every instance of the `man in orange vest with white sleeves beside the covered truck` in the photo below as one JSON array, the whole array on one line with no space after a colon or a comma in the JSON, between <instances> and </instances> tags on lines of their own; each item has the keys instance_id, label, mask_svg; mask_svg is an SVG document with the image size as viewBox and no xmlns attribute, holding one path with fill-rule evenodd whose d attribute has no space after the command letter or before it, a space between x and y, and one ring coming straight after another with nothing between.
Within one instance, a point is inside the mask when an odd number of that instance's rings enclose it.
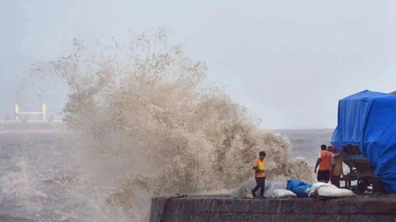
<instances>
[{"instance_id":1,"label":"man in orange vest with white sleeves beside the covered truck","mask_svg":"<svg viewBox=\"0 0 396 222\"><path fill-rule=\"evenodd\" d=\"M331 159L335 157L335 155L332 152L327 151L327 146L326 145L321 145L319 155L318 155L318 160L316 161L316 166L315 166L315 173L316 173L316 168L319 166L319 171L318 171L318 181L319 182L325 182L328 183L330 180L330 166L331 166ZM337 154L339 156L339 154Z\"/></svg>"}]
</instances>

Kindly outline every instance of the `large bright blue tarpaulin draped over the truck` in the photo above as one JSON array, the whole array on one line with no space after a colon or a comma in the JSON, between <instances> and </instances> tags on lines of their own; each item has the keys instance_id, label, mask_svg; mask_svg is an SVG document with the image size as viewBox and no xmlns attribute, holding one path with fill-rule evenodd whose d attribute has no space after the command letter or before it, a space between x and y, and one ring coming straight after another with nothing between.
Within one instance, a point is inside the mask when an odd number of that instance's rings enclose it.
<instances>
[{"instance_id":1,"label":"large bright blue tarpaulin draped over the truck","mask_svg":"<svg viewBox=\"0 0 396 222\"><path fill-rule=\"evenodd\" d=\"M338 103L331 145L358 145L386 190L396 193L396 96L368 90Z\"/></svg>"}]
</instances>

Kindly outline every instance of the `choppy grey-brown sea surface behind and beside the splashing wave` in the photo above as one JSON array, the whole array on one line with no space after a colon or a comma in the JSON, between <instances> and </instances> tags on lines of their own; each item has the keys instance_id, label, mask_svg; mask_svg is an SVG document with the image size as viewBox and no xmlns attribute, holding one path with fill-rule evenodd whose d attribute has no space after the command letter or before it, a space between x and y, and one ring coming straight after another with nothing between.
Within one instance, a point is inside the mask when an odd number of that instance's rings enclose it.
<instances>
[{"instance_id":1,"label":"choppy grey-brown sea surface behind and beside the splashing wave","mask_svg":"<svg viewBox=\"0 0 396 222\"><path fill-rule=\"evenodd\" d=\"M272 131L290 139L291 157L303 156L312 165L333 132ZM74 187L73 143L63 133L0 134L0 221L111 221L90 194Z\"/></svg>"}]
</instances>

